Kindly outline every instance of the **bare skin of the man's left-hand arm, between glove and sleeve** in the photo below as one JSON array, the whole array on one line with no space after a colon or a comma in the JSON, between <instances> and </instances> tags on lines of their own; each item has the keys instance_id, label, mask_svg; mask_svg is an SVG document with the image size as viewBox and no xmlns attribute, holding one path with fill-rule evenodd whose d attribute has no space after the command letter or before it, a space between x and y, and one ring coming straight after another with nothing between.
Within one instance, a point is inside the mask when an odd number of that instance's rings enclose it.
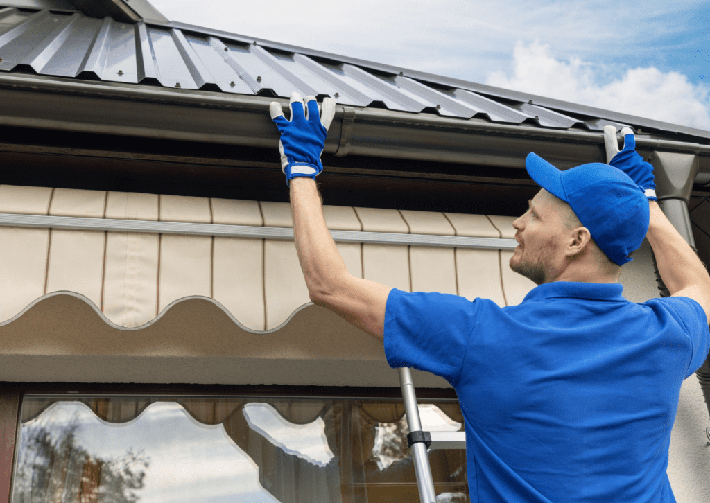
<instances>
[{"instance_id":1,"label":"bare skin of the man's left-hand arm, between glove and sleeve","mask_svg":"<svg viewBox=\"0 0 710 503\"><path fill-rule=\"evenodd\" d=\"M310 299L357 328L383 340L385 306L391 287L351 275L323 216L315 181L290 181L293 235Z\"/></svg>"}]
</instances>

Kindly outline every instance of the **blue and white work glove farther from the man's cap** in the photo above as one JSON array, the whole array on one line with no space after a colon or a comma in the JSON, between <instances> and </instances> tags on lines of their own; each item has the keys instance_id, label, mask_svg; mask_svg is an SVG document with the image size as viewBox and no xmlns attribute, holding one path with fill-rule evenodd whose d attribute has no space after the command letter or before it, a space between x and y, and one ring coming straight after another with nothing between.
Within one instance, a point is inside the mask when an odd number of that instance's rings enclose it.
<instances>
[{"instance_id":1,"label":"blue and white work glove farther from the man's cap","mask_svg":"<svg viewBox=\"0 0 710 503\"><path fill-rule=\"evenodd\" d=\"M304 104L305 101L305 104ZM328 128L335 114L335 100L323 100L322 113L315 96L301 99L297 92L291 93L291 120L283 116L281 104L272 101L269 106L271 119L281 133L278 151L281 153L281 171L286 175L286 184L294 177L310 177L315 180L323 170L320 155L323 152Z\"/></svg>"}]
</instances>

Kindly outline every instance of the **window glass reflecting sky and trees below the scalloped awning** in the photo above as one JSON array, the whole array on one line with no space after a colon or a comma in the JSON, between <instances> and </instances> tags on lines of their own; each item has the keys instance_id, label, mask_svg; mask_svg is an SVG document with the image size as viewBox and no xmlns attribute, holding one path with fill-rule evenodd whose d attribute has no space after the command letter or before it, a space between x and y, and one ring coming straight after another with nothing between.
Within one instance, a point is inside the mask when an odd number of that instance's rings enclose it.
<instances>
[{"instance_id":1,"label":"window glass reflecting sky and trees below the scalloped awning","mask_svg":"<svg viewBox=\"0 0 710 503\"><path fill-rule=\"evenodd\" d=\"M420 405L457 431L457 402ZM12 503L418 502L401 401L27 396ZM430 451L440 502L464 451Z\"/></svg>"}]
</instances>

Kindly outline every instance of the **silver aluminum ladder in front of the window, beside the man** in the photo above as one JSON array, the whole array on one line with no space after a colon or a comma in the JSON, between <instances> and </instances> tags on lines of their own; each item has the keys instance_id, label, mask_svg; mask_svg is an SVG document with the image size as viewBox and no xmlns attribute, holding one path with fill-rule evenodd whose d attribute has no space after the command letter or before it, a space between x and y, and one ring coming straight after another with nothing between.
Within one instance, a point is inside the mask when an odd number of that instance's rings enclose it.
<instances>
[{"instance_id":1,"label":"silver aluminum ladder in front of the window, beside the man","mask_svg":"<svg viewBox=\"0 0 710 503\"><path fill-rule=\"evenodd\" d=\"M414 470L417 474L419 499L421 503L436 503L437 497L434 492L434 479L429 465L427 448L465 449L466 433L464 431L422 431L422 421L419 417L412 372L410 372L408 367L399 367L397 370L400 376L404 410L409 426L407 443L414 456Z\"/></svg>"}]
</instances>

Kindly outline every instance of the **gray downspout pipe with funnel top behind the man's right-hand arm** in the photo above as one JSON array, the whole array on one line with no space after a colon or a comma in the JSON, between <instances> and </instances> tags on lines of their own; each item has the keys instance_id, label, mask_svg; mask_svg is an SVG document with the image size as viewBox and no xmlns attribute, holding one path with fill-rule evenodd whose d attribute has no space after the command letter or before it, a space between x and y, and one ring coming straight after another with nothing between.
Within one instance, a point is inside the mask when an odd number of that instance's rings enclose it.
<instances>
[{"instance_id":1,"label":"gray downspout pipe with funnel top behind the man's right-hand arm","mask_svg":"<svg viewBox=\"0 0 710 503\"><path fill-rule=\"evenodd\" d=\"M656 179L656 194L663 214L683 236L690 248L697 253L693 230L688 213L688 203L693 182L698 175L697 156L688 153L670 153L653 150L648 161L653 166ZM663 282L653 250L651 250L653 271L661 297L670 297L670 292ZM695 372L700 382L705 405L710 416L710 355L705 363Z\"/></svg>"}]
</instances>

